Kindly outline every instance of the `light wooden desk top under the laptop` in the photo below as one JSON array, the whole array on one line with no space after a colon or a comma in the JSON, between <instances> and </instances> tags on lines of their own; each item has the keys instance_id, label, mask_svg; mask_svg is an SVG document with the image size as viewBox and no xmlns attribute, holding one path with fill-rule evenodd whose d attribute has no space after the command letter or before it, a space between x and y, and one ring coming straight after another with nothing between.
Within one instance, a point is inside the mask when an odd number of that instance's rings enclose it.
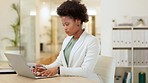
<instances>
[{"instance_id":1,"label":"light wooden desk top under the laptop","mask_svg":"<svg viewBox=\"0 0 148 83\"><path fill-rule=\"evenodd\" d=\"M0 74L0 83L97 83L83 77L32 79L17 74Z\"/></svg>"}]
</instances>

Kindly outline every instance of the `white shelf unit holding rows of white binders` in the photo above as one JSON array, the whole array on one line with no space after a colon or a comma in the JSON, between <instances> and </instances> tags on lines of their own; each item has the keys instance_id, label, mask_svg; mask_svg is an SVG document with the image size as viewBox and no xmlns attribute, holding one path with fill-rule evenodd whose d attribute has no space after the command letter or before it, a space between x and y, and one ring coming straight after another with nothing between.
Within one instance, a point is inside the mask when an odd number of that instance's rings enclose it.
<instances>
[{"instance_id":1,"label":"white shelf unit holding rows of white binders","mask_svg":"<svg viewBox=\"0 0 148 83\"><path fill-rule=\"evenodd\" d=\"M115 83L148 83L148 26L113 27L112 56Z\"/></svg>"}]
</instances>

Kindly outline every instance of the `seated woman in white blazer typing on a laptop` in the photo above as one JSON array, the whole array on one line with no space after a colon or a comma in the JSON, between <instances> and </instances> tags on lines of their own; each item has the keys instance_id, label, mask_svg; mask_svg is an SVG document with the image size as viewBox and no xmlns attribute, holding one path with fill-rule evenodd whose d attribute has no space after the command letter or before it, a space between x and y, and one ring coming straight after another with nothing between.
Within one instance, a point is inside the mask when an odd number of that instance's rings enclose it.
<instances>
[{"instance_id":1,"label":"seated woman in white blazer typing on a laptop","mask_svg":"<svg viewBox=\"0 0 148 83\"><path fill-rule=\"evenodd\" d=\"M94 73L99 45L96 37L82 28L88 21L86 7L77 1L65 1L57 8L64 30L68 35L57 59L50 65L37 65L35 73L42 76L82 76L95 81L100 78ZM101 82L99 82L101 83Z\"/></svg>"}]
</instances>

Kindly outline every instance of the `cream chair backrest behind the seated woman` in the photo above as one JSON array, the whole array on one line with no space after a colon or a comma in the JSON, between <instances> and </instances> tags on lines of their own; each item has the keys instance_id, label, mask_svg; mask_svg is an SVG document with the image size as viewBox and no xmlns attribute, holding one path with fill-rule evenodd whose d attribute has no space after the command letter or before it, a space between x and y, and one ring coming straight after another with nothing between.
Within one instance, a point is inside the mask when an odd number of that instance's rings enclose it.
<instances>
[{"instance_id":1,"label":"cream chair backrest behind the seated woman","mask_svg":"<svg viewBox=\"0 0 148 83\"><path fill-rule=\"evenodd\" d=\"M115 60L109 56L99 56L95 72L101 76L104 83L114 83Z\"/></svg>"}]
</instances>

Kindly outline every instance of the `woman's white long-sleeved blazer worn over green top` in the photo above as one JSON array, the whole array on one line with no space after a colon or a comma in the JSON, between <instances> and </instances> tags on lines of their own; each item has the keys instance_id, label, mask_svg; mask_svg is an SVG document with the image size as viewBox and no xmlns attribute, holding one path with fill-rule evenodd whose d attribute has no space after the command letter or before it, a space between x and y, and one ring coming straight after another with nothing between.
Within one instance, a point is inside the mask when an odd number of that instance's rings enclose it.
<instances>
[{"instance_id":1,"label":"woman's white long-sleeved blazer worn over green top","mask_svg":"<svg viewBox=\"0 0 148 83\"><path fill-rule=\"evenodd\" d=\"M67 65L63 52L71 38L72 36L68 36L64 39L59 56L52 64L46 65L46 67L60 66L60 75L82 76L99 81L99 77L94 73L100 50L97 38L84 31L73 46Z\"/></svg>"}]
</instances>

